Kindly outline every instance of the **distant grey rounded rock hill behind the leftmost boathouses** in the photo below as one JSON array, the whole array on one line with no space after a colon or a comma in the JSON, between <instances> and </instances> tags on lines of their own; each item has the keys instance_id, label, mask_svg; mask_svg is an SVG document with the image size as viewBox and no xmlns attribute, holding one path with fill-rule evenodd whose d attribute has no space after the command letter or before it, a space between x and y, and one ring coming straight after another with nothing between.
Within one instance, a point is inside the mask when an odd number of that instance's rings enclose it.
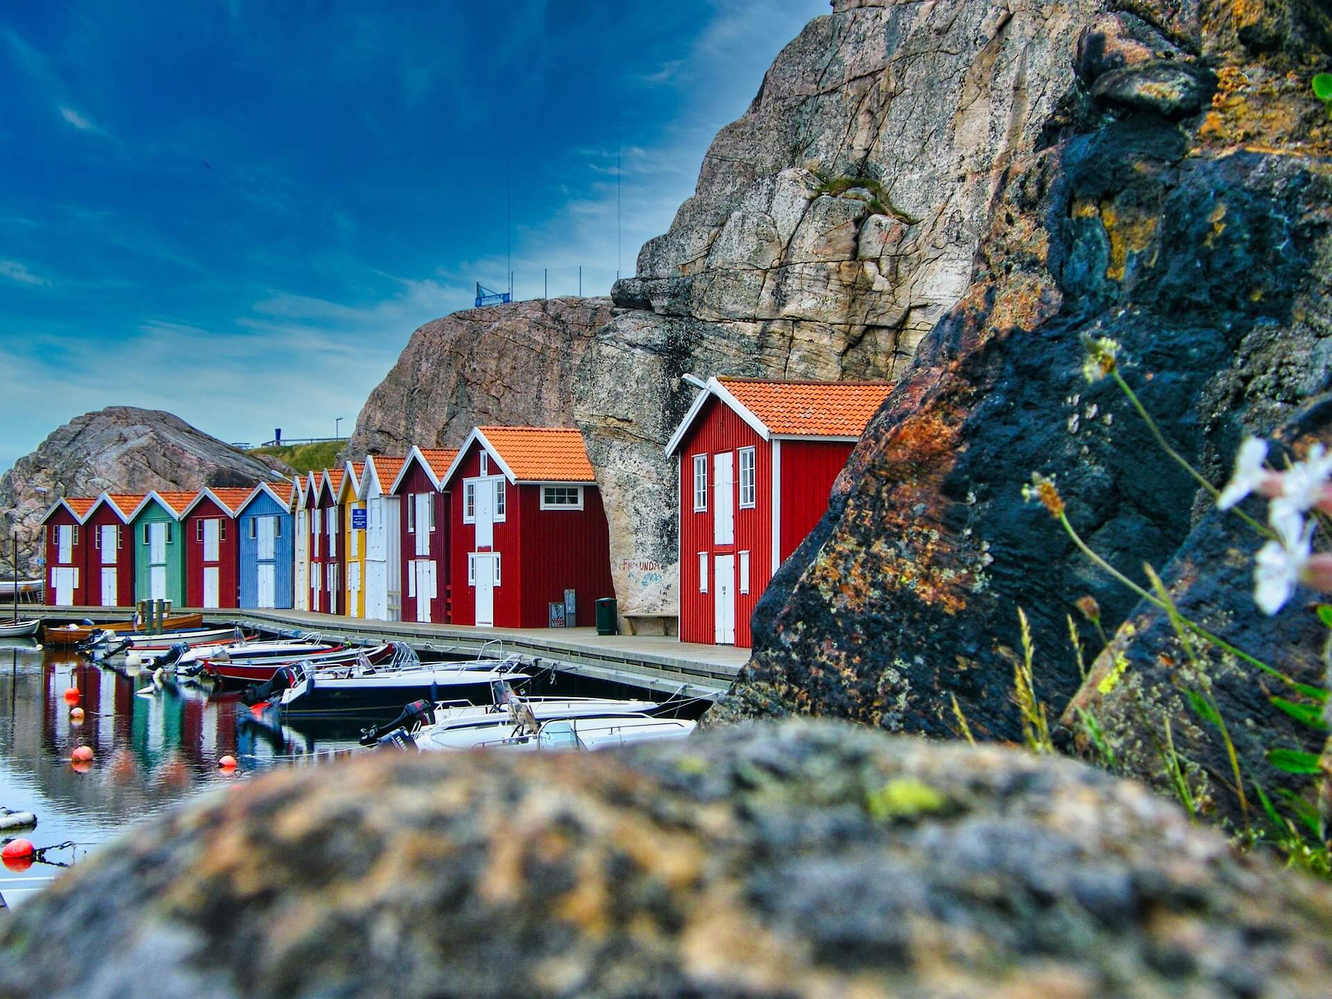
<instances>
[{"instance_id":1,"label":"distant grey rounded rock hill behind the leftmost boathouses","mask_svg":"<svg viewBox=\"0 0 1332 999\"><path fill-rule=\"evenodd\" d=\"M28 565L39 554L41 517L61 496L244 486L282 472L281 462L238 452L170 413L108 406L71 420L19 458L0 477L0 510L5 537L19 533Z\"/></svg>"}]
</instances>

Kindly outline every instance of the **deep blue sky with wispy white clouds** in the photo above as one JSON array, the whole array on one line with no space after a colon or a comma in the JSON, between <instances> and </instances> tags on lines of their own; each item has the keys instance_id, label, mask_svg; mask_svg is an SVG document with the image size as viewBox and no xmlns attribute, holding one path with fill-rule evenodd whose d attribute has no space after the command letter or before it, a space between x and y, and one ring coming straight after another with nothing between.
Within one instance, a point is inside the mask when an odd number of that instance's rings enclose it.
<instances>
[{"instance_id":1,"label":"deep blue sky with wispy white clouds","mask_svg":"<svg viewBox=\"0 0 1332 999\"><path fill-rule=\"evenodd\" d=\"M0 470L115 404L230 441L346 433L413 329L503 284L506 160L517 297L542 268L574 293L579 264L609 292L826 11L7 5Z\"/></svg>"}]
</instances>

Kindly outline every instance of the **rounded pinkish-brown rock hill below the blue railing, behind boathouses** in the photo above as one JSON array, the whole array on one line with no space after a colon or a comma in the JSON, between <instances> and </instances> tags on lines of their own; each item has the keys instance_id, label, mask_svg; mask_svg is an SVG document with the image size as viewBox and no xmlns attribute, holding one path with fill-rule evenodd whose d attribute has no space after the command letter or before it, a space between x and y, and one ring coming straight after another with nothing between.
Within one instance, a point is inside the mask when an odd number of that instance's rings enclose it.
<instances>
[{"instance_id":1,"label":"rounded pinkish-brown rock hill below the blue railing, behind boathouses","mask_svg":"<svg viewBox=\"0 0 1332 999\"><path fill-rule=\"evenodd\" d=\"M573 426L573 374L609 298L468 309L412 334L356 418L346 454L457 446L486 424Z\"/></svg>"}]
</instances>

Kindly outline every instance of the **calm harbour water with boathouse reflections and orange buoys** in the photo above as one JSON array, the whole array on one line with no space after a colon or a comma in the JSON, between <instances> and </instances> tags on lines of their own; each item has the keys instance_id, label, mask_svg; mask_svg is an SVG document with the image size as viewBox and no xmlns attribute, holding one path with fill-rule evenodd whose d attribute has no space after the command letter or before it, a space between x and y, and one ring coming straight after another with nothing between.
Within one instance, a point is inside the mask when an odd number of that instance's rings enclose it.
<instances>
[{"instance_id":1,"label":"calm harbour water with boathouse reflections and orange buoys","mask_svg":"<svg viewBox=\"0 0 1332 999\"><path fill-rule=\"evenodd\" d=\"M69 718L69 686L83 693L83 725ZM0 838L75 843L27 870L0 866L0 895L21 904L59 864L77 863L129 823L262 770L357 747L354 725L296 729L272 714L256 717L234 693L155 689L147 675L95 666L67 649L0 639L0 806L37 815L35 830ZM87 773L69 762L80 745L96 754ZM228 753L240 761L233 775L217 767Z\"/></svg>"}]
</instances>

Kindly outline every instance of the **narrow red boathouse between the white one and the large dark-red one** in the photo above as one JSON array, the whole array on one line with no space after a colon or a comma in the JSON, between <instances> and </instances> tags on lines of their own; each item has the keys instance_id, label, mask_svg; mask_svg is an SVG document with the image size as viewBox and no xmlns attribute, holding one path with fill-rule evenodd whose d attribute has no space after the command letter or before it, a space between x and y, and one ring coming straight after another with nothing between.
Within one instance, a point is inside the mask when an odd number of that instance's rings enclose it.
<instances>
[{"instance_id":1,"label":"narrow red boathouse between the white one and the large dark-red one","mask_svg":"<svg viewBox=\"0 0 1332 999\"><path fill-rule=\"evenodd\" d=\"M393 482L400 497L398 559L402 574L402 619L450 621L449 526L452 493L442 489L457 448L413 448Z\"/></svg>"}]
</instances>

